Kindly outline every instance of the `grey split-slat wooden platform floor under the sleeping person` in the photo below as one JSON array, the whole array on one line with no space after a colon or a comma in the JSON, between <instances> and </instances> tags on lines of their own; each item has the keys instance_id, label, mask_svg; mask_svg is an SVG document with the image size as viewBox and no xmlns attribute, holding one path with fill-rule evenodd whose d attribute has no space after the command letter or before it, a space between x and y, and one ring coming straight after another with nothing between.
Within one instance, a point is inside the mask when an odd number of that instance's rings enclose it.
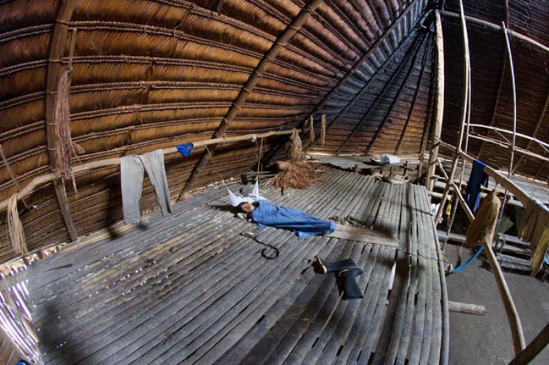
<instances>
[{"instance_id":1,"label":"grey split-slat wooden platform floor under the sleeping person","mask_svg":"<svg viewBox=\"0 0 549 365\"><path fill-rule=\"evenodd\" d=\"M234 188L236 189L236 188ZM398 232L399 249L261 228L226 209L224 188L153 213L124 235L62 250L30 268L47 364L436 364L447 362L441 252L423 187L328 172L266 198L327 219ZM361 300L341 299L315 256L364 268ZM394 275L393 275L393 274Z\"/></svg>"}]
</instances>

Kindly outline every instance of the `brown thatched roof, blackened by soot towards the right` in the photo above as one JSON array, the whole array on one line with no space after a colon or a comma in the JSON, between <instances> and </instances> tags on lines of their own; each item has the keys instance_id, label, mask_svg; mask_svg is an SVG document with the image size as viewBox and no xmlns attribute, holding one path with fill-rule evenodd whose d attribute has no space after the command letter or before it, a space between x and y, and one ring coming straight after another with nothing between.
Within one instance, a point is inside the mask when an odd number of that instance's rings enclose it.
<instances>
[{"instance_id":1,"label":"brown thatched roof, blackened by soot towards the right","mask_svg":"<svg viewBox=\"0 0 549 365\"><path fill-rule=\"evenodd\" d=\"M51 172L46 121L49 83L69 63L71 34L77 29L70 88L71 136L86 154L77 163L141 154L178 143L213 137L235 112L226 134L265 132L299 126L314 114L327 115L320 154L397 153L418 158L425 149L432 109L434 34L428 0L324 0L314 11L302 0L3 0L0 1L0 143L24 187ZM308 4L308 5L307 5ZM537 1L465 1L468 15L509 27L544 45L548 9ZM524 4L528 5L525 6ZM73 7L73 8L71 8ZM456 11L456 1L445 10ZM294 29L302 12L305 22ZM56 21L57 19L57 21ZM443 139L455 143L461 95L461 38L458 21L443 16L446 104ZM473 116L489 123L504 58L503 34L471 25ZM253 90L243 86L285 32L295 34ZM64 31L64 32L63 32ZM61 37L59 36L61 35ZM51 57L56 54L57 59ZM519 131L532 134L546 97L547 53L513 41L519 90ZM54 70L54 71L49 71ZM482 80L482 82L477 81ZM50 85L51 86L51 85ZM50 95L50 96L48 96ZM502 82L493 125L509 128L509 77ZM547 117L546 117L547 119ZM484 131L482 131L484 132ZM537 137L549 140L547 121ZM318 134L318 133L317 133ZM52 138L50 136L50 138ZM285 139L266 141L268 152L283 153ZM478 143L471 142L472 149ZM200 161L166 156L170 189L177 196ZM482 155L504 166L508 156L487 145ZM251 142L218 146L215 167L236 176L257 163ZM537 165L536 165L537 164ZM539 163L522 163L534 176ZM545 174L545 172L544 172ZM193 187L219 180L213 164L196 174ZM76 176L78 196L67 184L69 209L78 235L121 217L119 169L103 167ZM152 188L143 191L143 209L154 207ZM0 168L0 199L16 191L8 169ZM54 185L27 199L38 209L21 219L29 249L69 238ZM0 228L0 261L14 257Z\"/></svg>"}]
</instances>

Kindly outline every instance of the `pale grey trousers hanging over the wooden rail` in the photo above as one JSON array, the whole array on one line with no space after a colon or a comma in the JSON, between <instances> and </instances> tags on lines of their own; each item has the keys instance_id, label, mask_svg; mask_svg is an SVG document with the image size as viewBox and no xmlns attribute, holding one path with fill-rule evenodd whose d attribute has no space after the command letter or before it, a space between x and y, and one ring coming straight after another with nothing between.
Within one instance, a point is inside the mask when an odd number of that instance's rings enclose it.
<instances>
[{"instance_id":1,"label":"pale grey trousers hanging over the wooden rail","mask_svg":"<svg viewBox=\"0 0 549 365\"><path fill-rule=\"evenodd\" d=\"M150 183L159 201L162 215L172 213L170 189L167 187L164 168L164 152L155 150L137 156L132 154L120 159L120 181L122 189L122 211L124 223L139 223L139 199L143 191L144 170L147 170Z\"/></svg>"}]
</instances>

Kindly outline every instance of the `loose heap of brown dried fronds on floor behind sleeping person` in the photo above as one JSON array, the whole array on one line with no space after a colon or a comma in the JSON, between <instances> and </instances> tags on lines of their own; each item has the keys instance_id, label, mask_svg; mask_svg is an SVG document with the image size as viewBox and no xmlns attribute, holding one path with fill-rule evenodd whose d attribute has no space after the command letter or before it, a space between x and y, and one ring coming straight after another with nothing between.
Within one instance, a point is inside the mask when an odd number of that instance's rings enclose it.
<instances>
[{"instance_id":1,"label":"loose heap of brown dried fronds on floor behind sleeping person","mask_svg":"<svg viewBox=\"0 0 549 365\"><path fill-rule=\"evenodd\" d=\"M275 163L278 174L272 179L274 187L292 187L294 189L307 189L307 187L320 181L320 177L314 171L314 168L303 162L285 162Z\"/></svg>"}]
</instances>

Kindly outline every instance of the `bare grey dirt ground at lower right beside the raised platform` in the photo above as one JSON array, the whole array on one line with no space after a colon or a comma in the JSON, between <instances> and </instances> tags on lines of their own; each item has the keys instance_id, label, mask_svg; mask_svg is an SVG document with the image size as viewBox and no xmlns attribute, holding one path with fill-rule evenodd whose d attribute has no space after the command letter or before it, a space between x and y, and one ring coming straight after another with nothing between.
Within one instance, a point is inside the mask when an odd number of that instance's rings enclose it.
<instances>
[{"instance_id":1,"label":"bare grey dirt ground at lower right beside the raised platform","mask_svg":"<svg viewBox=\"0 0 549 365\"><path fill-rule=\"evenodd\" d=\"M448 244L445 257L455 262L459 246ZM463 260L472 255L463 248ZM449 364L508 364L513 359L511 331L493 274L482 255L466 270L446 276L448 299L482 304L485 316L450 313ZM504 271L517 306L526 344L549 322L549 282L528 274ZM549 346L530 364L549 364Z\"/></svg>"}]
</instances>

